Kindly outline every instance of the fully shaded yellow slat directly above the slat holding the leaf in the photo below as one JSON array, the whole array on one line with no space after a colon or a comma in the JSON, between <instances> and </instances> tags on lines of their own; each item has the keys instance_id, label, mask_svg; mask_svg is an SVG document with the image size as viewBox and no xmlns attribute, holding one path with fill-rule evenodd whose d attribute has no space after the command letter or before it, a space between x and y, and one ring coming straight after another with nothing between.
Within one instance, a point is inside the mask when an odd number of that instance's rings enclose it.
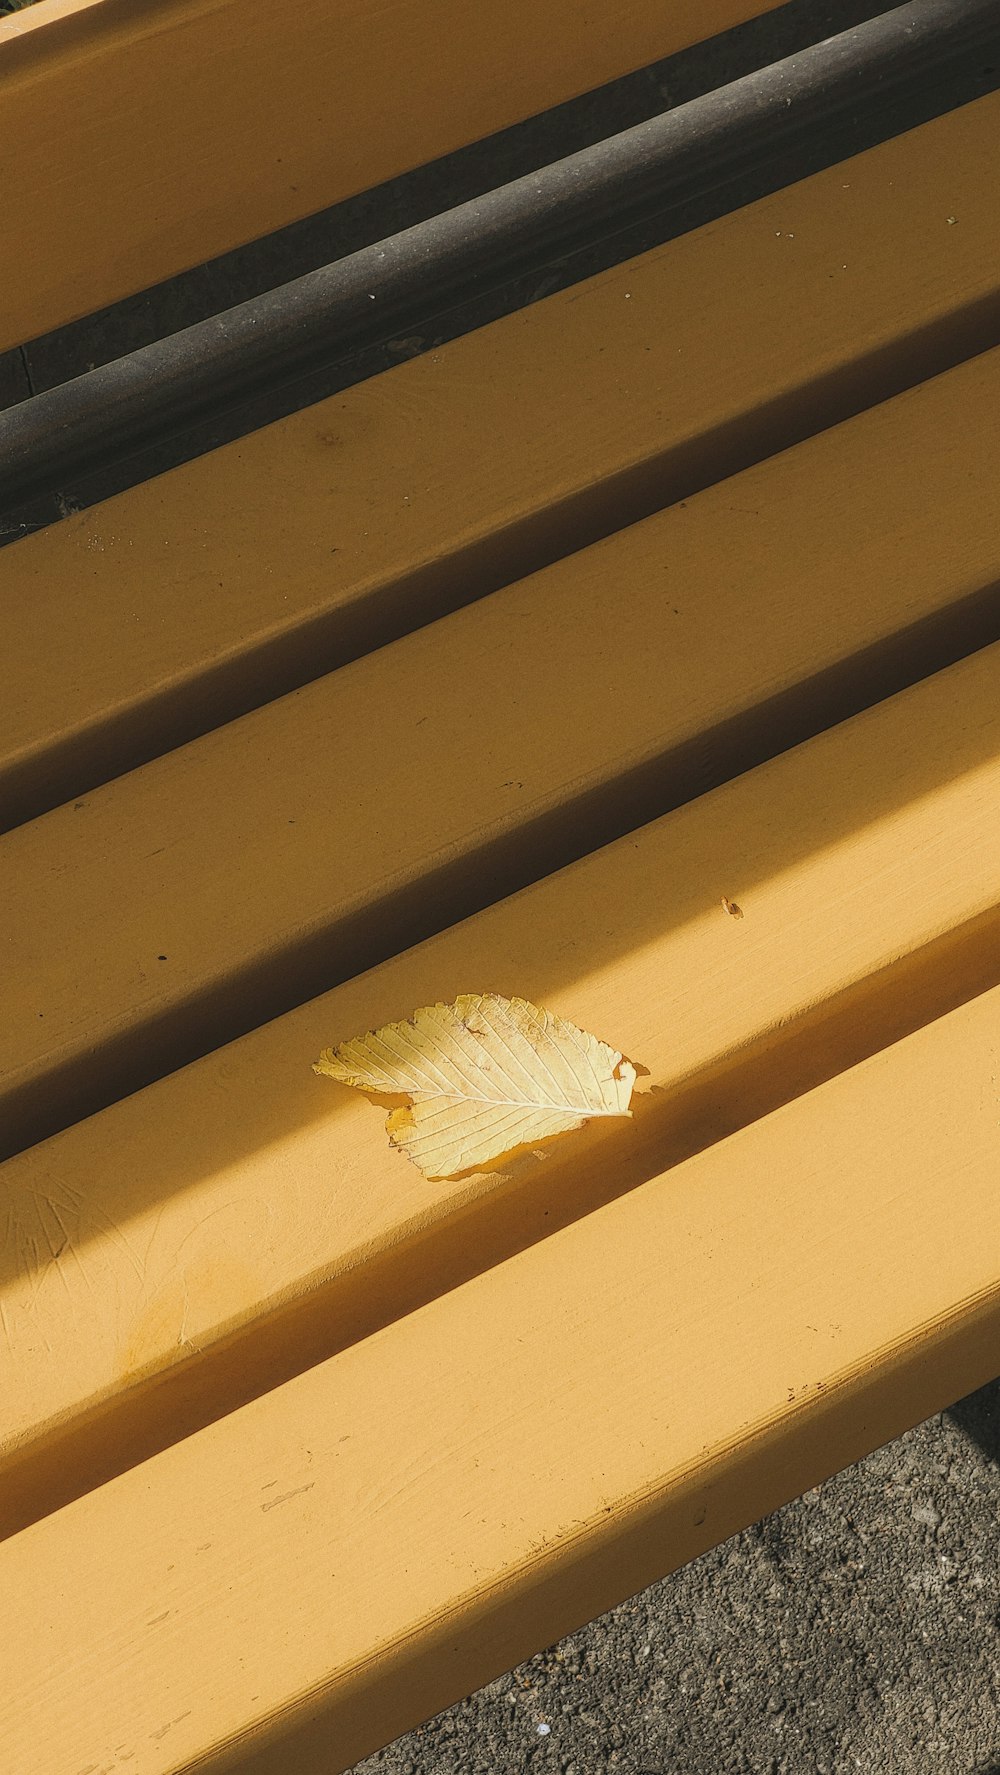
<instances>
[{"instance_id":1,"label":"fully shaded yellow slat directly above the slat holding the leaf","mask_svg":"<svg viewBox=\"0 0 1000 1775\"><path fill-rule=\"evenodd\" d=\"M998 405L1000 351L9 832L5 1152L996 639Z\"/></svg>"}]
</instances>

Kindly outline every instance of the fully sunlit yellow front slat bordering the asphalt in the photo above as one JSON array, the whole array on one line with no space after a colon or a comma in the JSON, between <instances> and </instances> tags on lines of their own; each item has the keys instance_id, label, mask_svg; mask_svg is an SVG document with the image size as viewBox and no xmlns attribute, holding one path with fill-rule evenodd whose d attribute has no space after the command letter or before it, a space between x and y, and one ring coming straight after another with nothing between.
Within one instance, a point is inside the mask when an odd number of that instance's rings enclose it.
<instances>
[{"instance_id":1,"label":"fully sunlit yellow front slat bordering the asphalt","mask_svg":"<svg viewBox=\"0 0 1000 1775\"><path fill-rule=\"evenodd\" d=\"M329 1775L984 1383L1000 990L0 1548L0 1757Z\"/></svg>"}]
</instances>

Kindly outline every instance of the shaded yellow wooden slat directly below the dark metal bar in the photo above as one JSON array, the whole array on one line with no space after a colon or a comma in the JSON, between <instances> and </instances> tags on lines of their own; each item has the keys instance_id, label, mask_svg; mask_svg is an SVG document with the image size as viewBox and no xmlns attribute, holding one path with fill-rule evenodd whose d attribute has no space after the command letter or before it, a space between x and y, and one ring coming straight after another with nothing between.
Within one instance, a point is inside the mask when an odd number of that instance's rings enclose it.
<instances>
[{"instance_id":1,"label":"shaded yellow wooden slat directly below the dark metal bar","mask_svg":"<svg viewBox=\"0 0 1000 1775\"><path fill-rule=\"evenodd\" d=\"M995 344L998 135L993 94L7 548L0 825Z\"/></svg>"}]
</instances>

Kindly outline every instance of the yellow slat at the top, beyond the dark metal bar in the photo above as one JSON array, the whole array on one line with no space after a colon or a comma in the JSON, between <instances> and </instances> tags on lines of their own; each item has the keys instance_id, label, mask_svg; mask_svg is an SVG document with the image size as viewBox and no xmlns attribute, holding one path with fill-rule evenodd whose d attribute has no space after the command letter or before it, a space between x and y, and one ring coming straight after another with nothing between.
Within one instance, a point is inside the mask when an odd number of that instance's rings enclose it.
<instances>
[{"instance_id":1,"label":"yellow slat at the top, beyond the dark metal bar","mask_svg":"<svg viewBox=\"0 0 1000 1775\"><path fill-rule=\"evenodd\" d=\"M773 4L43 0L0 20L0 350Z\"/></svg>"}]
</instances>

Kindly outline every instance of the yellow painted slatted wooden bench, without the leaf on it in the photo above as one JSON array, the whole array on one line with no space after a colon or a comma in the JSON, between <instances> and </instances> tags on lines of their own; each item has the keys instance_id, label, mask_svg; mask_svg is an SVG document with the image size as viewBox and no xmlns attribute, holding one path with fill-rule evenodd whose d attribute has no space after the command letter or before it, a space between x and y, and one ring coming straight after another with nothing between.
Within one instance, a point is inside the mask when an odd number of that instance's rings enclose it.
<instances>
[{"instance_id":1,"label":"yellow painted slatted wooden bench, without the leaf on it","mask_svg":"<svg viewBox=\"0 0 1000 1775\"><path fill-rule=\"evenodd\" d=\"M37 178L80 154L39 94L126 53L158 89L234 11L20 14ZM611 62L512 9L480 53L551 53L487 126L698 34L661 12ZM471 55L458 14L405 14L425 57ZM293 137L330 9L275 18ZM428 103L242 209L194 87L217 185L158 156L112 263L156 115L110 133L92 250L25 245L44 325L485 126ZM993 1377L998 128L966 105L0 554L11 1775L348 1768ZM425 1180L309 1063L464 990L620 1047L632 1120Z\"/></svg>"}]
</instances>

